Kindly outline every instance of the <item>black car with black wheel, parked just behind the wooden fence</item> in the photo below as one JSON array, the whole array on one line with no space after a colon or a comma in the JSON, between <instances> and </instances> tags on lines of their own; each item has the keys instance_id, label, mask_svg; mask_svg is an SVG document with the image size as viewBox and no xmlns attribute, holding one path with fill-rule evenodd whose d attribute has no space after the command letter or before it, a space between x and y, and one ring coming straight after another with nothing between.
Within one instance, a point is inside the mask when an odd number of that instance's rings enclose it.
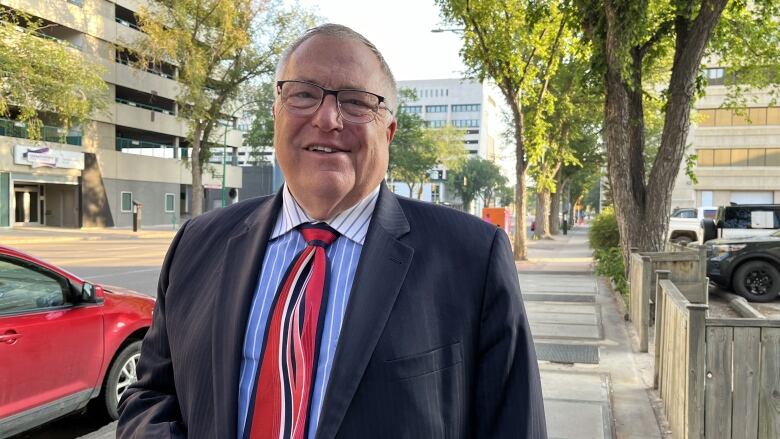
<instances>
[{"instance_id":1,"label":"black car with black wheel, parked just behind the wooden fence","mask_svg":"<svg viewBox=\"0 0 780 439\"><path fill-rule=\"evenodd\" d=\"M707 276L754 302L780 294L780 231L770 236L715 239L707 244Z\"/></svg>"}]
</instances>

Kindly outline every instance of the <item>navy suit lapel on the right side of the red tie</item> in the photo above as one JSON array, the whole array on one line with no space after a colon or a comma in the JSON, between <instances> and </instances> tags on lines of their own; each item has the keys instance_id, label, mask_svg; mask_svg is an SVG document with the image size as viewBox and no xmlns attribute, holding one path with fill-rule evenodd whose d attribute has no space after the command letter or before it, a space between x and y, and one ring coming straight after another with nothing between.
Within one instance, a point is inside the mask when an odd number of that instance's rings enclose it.
<instances>
[{"instance_id":1,"label":"navy suit lapel on the right side of the red tie","mask_svg":"<svg viewBox=\"0 0 780 439\"><path fill-rule=\"evenodd\" d=\"M338 433L382 335L412 261L414 249L398 240L408 231L398 200L383 183L344 315L317 439Z\"/></svg>"}]
</instances>

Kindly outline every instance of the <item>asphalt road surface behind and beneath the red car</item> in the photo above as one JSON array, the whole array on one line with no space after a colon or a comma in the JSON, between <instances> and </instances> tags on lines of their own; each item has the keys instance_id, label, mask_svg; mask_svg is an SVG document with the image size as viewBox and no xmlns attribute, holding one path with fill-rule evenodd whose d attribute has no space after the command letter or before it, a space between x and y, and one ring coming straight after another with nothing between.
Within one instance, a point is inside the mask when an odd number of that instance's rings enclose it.
<instances>
[{"instance_id":1,"label":"asphalt road surface behind and beneath the red car","mask_svg":"<svg viewBox=\"0 0 780 439\"><path fill-rule=\"evenodd\" d=\"M116 285L149 296L157 295L160 274L170 238L127 239L103 237L75 242L14 244L49 263L103 285ZM70 415L13 439L108 439L115 423L90 411Z\"/></svg>"}]
</instances>

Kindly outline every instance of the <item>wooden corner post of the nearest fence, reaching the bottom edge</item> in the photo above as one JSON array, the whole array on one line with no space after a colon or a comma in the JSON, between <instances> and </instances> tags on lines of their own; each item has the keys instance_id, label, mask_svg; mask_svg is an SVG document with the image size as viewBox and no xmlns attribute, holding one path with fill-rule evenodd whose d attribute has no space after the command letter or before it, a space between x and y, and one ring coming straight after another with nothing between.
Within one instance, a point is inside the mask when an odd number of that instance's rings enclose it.
<instances>
[{"instance_id":1,"label":"wooden corner post of the nearest fence, reaching the bottom edge","mask_svg":"<svg viewBox=\"0 0 780 439\"><path fill-rule=\"evenodd\" d=\"M706 368L706 304L688 305L688 438L704 438L704 376Z\"/></svg>"}]
</instances>

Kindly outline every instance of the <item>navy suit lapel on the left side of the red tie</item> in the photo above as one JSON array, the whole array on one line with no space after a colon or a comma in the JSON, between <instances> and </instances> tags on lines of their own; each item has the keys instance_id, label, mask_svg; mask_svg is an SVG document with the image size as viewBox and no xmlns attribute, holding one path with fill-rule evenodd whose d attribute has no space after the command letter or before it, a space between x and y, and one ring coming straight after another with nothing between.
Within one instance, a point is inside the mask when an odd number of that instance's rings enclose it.
<instances>
[{"instance_id":1,"label":"navy suit lapel on the left side of the red tie","mask_svg":"<svg viewBox=\"0 0 780 439\"><path fill-rule=\"evenodd\" d=\"M249 308L281 205L282 195L277 193L260 205L227 243L211 339L215 424L220 437L237 435L238 379Z\"/></svg>"}]
</instances>

